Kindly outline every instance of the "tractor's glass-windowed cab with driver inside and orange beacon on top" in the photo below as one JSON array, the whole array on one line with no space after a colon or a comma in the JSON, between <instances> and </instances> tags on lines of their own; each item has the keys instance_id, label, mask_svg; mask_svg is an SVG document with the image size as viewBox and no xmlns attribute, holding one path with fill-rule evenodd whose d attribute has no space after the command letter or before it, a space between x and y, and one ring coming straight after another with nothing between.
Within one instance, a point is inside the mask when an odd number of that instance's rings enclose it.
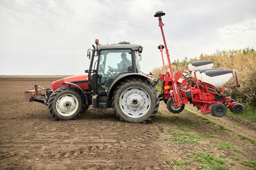
<instances>
[{"instance_id":1,"label":"tractor's glass-windowed cab with driver inside and orange beacon on top","mask_svg":"<svg viewBox=\"0 0 256 170\"><path fill-rule=\"evenodd\" d=\"M140 73L140 61L143 47L131 45L129 42L119 42L112 45L99 45L88 49L87 56L90 59L88 83L93 90L92 106L94 108L108 108L111 90L122 77ZM111 100L111 99L110 99Z\"/></svg>"}]
</instances>

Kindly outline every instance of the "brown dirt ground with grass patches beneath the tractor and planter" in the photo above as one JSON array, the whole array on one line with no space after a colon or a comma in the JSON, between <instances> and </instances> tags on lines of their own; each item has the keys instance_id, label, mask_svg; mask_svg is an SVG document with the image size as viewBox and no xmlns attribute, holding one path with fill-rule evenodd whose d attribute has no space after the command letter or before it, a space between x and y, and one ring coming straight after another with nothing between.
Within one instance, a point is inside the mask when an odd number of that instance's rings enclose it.
<instances>
[{"instance_id":1,"label":"brown dirt ground with grass patches beneath the tractor and planter","mask_svg":"<svg viewBox=\"0 0 256 170\"><path fill-rule=\"evenodd\" d=\"M171 114L164 103L149 124L92 108L55 121L43 104L24 99L35 83L50 88L53 80L0 76L0 169L256 169L255 123L191 106Z\"/></svg>"}]
</instances>

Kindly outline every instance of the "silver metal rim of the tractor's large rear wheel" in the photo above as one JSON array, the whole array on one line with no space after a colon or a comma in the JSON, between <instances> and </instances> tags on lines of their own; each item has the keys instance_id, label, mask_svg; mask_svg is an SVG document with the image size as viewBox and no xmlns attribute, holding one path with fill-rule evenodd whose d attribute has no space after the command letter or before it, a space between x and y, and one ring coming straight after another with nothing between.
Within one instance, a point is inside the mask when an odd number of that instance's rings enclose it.
<instances>
[{"instance_id":1,"label":"silver metal rim of the tractor's large rear wheel","mask_svg":"<svg viewBox=\"0 0 256 170\"><path fill-rule=\"evenodd\" d=\"M119 106L128 117L142 117L150 109L151 99L149 93L138 87L127 88L122 92L119 99Z\"/></svg>"}]
</instances>

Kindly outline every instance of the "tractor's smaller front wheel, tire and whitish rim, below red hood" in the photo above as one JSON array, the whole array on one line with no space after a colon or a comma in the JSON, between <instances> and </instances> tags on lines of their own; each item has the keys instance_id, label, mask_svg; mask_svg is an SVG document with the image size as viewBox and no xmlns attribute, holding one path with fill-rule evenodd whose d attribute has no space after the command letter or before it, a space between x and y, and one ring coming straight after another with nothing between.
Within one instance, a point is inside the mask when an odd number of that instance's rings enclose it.
<instances>
[{"instance_id":1,"label":"tractor's smaller front wheel, tire and whitish rim, below red hood","mask_svg":"<svg viewBox=\"0 0 256 170\"><path fill-rule=\"evenodd\" d=\"M50 95L48 108L56 120L72 120L81 114L83 102L80 93L70 87L62 87Z\"/></svg>"}]
</instances>

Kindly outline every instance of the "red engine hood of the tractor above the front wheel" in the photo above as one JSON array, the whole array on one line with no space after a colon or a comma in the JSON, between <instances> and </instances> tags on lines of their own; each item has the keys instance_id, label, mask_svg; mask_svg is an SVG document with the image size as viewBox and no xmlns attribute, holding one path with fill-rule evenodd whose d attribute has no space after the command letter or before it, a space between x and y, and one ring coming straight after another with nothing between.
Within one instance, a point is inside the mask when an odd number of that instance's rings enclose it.
<instances>
[{"instance_id":1,"label":"red engine hood of the tractor above the front wheel","mask_svg":"<svg viewBox=\"0 0 256 170\"><path fill-rule=\"evenodd\" d=\"M83 90L89 90L88 75L75 75L71 77L65 77L60 80L56 80L55 82L52 82L52 90L55 91L58 88L70 86L70 84L63 84L64 82L71 82L71 83L77 84ZM72 85L71 87L77 88L76 86L72 86Z\"/></svg>"}]
</instances>

